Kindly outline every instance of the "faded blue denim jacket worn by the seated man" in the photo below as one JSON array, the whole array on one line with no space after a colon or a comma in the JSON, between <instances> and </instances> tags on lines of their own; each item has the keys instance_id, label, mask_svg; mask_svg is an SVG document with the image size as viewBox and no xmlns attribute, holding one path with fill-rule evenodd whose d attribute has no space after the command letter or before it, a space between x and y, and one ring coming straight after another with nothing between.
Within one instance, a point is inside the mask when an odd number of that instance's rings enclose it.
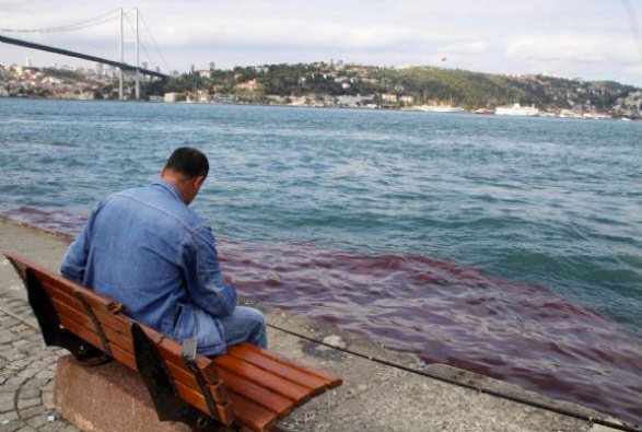
<instances>
[{"instance_id":1,"label":"faded blue denim jacket worn by the seated man","mask_svg":"<svg viewBox=\"0 0 642 432\"><path fill-rule=\"evenodd\" d=\"M225 351L217 317L234 311L209 225L167 182L101 201L69 246L60 272L125 304L126 314L198 352Z\"/></svg>"}]
</instances>

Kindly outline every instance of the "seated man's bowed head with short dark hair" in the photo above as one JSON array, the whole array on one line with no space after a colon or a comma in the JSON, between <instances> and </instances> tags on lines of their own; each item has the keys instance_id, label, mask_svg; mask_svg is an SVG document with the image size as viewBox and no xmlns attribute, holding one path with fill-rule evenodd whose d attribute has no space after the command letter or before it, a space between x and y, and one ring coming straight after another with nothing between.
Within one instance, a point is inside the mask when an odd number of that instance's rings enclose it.
<instances>
[{"instance_id":1,"label":"seated man's bowed head with short dark hair","mask_svg":"<svg viewBox=\"0 0 642 432\"><path fill-rule=\"evenodd\" d=\"M178 189L183 201L189 206L210 171L208 157L191 147L174 150L161 172L161 178Z\"/></svg>"}]
</instances>

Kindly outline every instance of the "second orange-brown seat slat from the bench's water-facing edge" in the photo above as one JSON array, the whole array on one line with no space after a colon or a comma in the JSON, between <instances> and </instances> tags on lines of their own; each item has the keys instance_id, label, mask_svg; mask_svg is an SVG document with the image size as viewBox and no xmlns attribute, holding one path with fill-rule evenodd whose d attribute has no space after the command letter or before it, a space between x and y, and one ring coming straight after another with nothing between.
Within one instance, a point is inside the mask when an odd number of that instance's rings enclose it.
<instances>
[{"instance_id":1,"label":"second orange-brown seat slat from the bench's water-facing edge","mask_svg":"<svg viewBox=\"0 0 642 432\"><path fill-rule=\"evenodd\" d=\"M278 375L273 375L254 364L244 362L243 360L230 355L220 355L213 358L212 361L217 366L233 372L262 387L269 388L281 396L293 400L296 405L303 404L312 397L312 389Z\"/></svg>"}]
</instances>

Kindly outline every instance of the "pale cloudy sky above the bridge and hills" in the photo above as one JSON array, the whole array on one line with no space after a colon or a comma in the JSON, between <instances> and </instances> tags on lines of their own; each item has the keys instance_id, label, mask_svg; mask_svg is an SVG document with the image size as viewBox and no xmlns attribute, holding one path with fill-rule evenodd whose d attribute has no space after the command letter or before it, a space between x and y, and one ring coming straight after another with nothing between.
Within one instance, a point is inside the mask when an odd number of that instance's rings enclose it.
<instances>
[{"instance_id":1,"label":"pale cloudy sky above the bridge and hills","mask_svg":"<svg viewBox=\"0 0 642 432\"><path fill-rule=\"evenodd\" d=\"M165 72L332 59L642 86L640 0L0 0L0 35L117 60L117 19L65 33L7 30L74 24L112 11L116 17L121 7L137 7L142 16L141 61ZM136 20L125 16L125 61L135 63ZM36 67L93 67L0 44L0 65L24 65L25 57Z\"/></svg>"}]
</instances>

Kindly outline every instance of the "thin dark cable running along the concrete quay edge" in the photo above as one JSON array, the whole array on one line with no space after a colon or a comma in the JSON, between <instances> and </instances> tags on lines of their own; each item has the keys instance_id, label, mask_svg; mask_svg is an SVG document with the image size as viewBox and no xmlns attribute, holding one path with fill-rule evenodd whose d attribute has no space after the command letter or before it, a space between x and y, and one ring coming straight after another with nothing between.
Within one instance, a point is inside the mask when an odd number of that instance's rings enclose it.
<instances>
[{"instance_id":1,"label":"thin dark cable running along the concrete quay edge","mask_svg":"<svg viewBox=\"0 0 642 432\"><path fill-rule=\"evenodd\" d=\"M502 399L511 400L511 401L514 401L514 402L527 405L527 406L535 407L535 408L545 409L547 411L557 412L559 415L563 415L563 416L567 416L567 417L572 417L572 418L575 418L575 419L579 419L579 420L584 420L584 421L588 422L590 424L594 424L594 423L595 424L600 424L600 425L604 425L604 427L607 427L607 428L612 428L612 429L617 429L617 430L626 431L626 432L641 432L642 431L642 429L640 429L638 425L620 424L620 423L616 423L616 422L612 422L612 421L609 421L609 420L603 420L603 419L598 419L598 418L593 418L593 417L590 417L590 416L584 416L584 415L581 415L581 413L577 413L577 412L569 411L569 410L565 410L563 408L552 407L550 405L540 404L540 402L532 401L532 400L528 400L528 399L524 399L524 398L521 398L518 396L506 395L504 393L501 393L501 392L498 392L498 390L493 390L491 388L483 388L483 387L478 387L478 386L475 386L475 385L471 385L471 384L462 383L459 381L447 378L445 376L440 376L437 374L433 374L433 373L428 372L428 371L418 371L418 370L415 370L415 369L405 366L402 364L397 364L397 363L389 362L389 361L384 360L384 359L378 359L376 357L362 354L360 352L351 351L351 350L346 349L346 348L336 347L334 345L326 343L326 342L323 342L320 340L316 340L314 338L311 338L311 337L307 337L307 336L304 336L304 335L300 335L300 334L297 334L295 331L288 330L285 328L276 326L273 324L269 324L268 323L267 326L268 327L271 327L271 328L273 328L276 330L280 330L280 331L287 332L289 335L296 336L297 338L305 339L305 340L307 340L310 342L322 345L324 347L328 347L328 348L331 348L334 350L345 352L347 354L359 357L359 358L362 358L362 359L365 359L365 360L370 360L370 361L373 361L373 362L376 362L376 363L380 363L380 364L384 364L386 366L396 367L396 369L399 369L401 371L410 372L410 373L413 373L413 374L417 374L417 375L422 375L422 376L425 376L425 377L429 377L429 378L433 378L433 380L437 380L437 381L441 381L441 382L444 382L444 383L454 384L454 385L459 386L459 387L465 387L465 388L468 388L468 389L471 389L471 390L476 390L477 393L485 393L487 395L500 397Z\"/></svg>"}]
</instances>

